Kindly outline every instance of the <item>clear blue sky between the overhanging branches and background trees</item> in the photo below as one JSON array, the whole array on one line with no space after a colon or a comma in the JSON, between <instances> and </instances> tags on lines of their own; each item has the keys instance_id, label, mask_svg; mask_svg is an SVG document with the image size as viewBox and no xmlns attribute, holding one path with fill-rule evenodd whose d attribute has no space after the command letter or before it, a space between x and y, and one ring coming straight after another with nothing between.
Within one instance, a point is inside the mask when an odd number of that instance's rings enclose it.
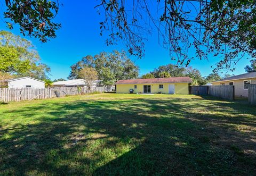
<instances>
[{"instance_id":1,"label":"clear blue sky between the overhanging branches and background trees","mask_svg":"<svg viewBox=\"0 0 256 176\"><path fill-rule=\"evenodd\" d=\"M51 39L47 43L41 43L38 39L25 38L31 40L36 46L41 62L51 67L51 79L67 78L70 72L69 66L81 60L83 56L95 55L99 52L111 52L113 49L121 50L126 48L122 42L118 45L107 46L105 44L106 35L100 37L100 25L102 16L98 15L94 6L98 1L61 1L63 6L60 7L59 13L55 21L60 22L62 28L57 31L57 38ZM4 4L0 3L1 12L5 9ZM8 30L6 28L3 14L0 18L0 30ZM18 26L14 26L11 30L15 35L20 35ZM169 51L162 48L158 44L157 35L148 37L145 47L145 57L142 59L131 56L130 58L140 66L140 75L152 71L159 65L169 63L171 61ZM190 66L201 71L202 76L211 73L211 65L217 63L219 58L210 57L209 61L193 60ZM245 65L249 64L249 60L244 58L241 60L234 72L230 74L244 73Z\"/></svg>"}]
</instances>

